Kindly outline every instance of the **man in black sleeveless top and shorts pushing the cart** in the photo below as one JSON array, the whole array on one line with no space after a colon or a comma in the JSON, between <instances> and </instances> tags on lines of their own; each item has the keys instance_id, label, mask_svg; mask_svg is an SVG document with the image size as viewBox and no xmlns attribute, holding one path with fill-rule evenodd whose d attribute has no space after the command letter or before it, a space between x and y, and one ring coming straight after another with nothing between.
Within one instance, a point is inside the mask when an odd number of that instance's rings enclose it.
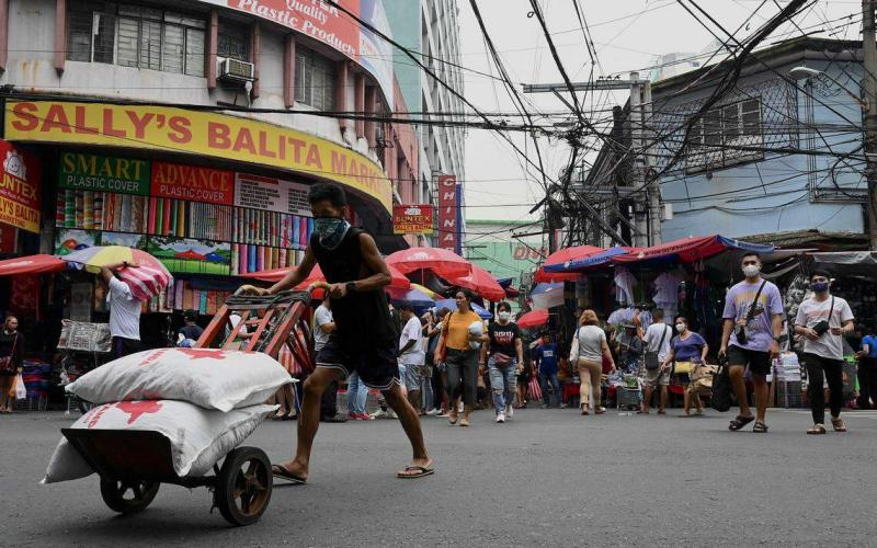
<instances>
[{"instance_id":1,"label":"man in black sleeveless top and shorts pushing the cart","mask_svg":"<svg viewBox=\"0 0 877 548\"><path fill-rule=\"evenodd\" d=\"M317 368L304 384L305 396L298 419L298 446L295 457L274 465L276 478L294 483L308 479L310 452L320 420L320 397L327 387L352 373L369 388L380 390L387 404L399 416L413 458L397 472L399 478L419 478L433 473L433 460L426 454L417 411L399 386L398 339L390 322L384 288L390 283L387 264L375 240L344 220L346 197L333 184L315 184L308 193L314 213L314 235L297 269L266 290L274 294L295 287L320 265L332 300L335 330L317 354Z\"/></svg>"}]
</instances>

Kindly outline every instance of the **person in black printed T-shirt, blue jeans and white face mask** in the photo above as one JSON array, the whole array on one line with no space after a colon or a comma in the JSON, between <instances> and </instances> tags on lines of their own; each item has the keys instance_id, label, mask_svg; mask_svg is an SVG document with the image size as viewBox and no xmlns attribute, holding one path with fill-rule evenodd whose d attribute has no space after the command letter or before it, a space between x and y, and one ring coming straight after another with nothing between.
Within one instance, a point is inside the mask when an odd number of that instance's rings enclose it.
<instances>
[{"instance_id":1,"label":"person in black printed T-shirt, blue jeans and white face mask","mask_svg":"<svg viewBox=\"0 0 877 548\"><path fill-rule=\"evenodd\" d=\"M489 341L481 345L481 367L487 365L497 422L505 422L514 414L512 401L517 389L517 364L524 362L524 343L521 328L511 321L512 307L508 302L497 306L497 321L488 328Z\"/></svg>"}]
</instances>

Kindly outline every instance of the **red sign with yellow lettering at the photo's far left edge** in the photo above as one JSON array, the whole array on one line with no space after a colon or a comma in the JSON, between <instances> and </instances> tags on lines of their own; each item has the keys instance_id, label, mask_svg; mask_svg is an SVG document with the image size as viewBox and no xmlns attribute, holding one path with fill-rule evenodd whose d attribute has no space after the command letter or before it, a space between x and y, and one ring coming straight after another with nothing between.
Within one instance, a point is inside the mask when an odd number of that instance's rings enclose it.
<instances>
[{"instance_id":1,"label":"red sign with yellow lettering at the photo's far left edge","mask_svg":"<svg viewBox=\"0 0 877 548\"><path fill-rule=\"evenodd\" d=\"M0 222L39 233L39 162L2 139Z\"/></svg>"}]
</instances>

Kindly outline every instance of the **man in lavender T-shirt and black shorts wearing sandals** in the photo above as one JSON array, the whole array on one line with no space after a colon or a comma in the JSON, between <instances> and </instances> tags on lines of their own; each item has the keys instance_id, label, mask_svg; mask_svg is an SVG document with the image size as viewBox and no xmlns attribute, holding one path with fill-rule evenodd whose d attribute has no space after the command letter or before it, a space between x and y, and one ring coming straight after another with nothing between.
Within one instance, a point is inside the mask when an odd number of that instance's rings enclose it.
<instances>
[{"instance_id":1,"label":"man in lavender T-shirt and black shorts wearing sandals","mask_svg":"<svg viewBox=\"0 0 877 548\"><path fill-rule=\"evenodd\" d=\"M755 421L752 432L767 432L764 414L767 409L767 375L771 359L779 355L783 334L783 298L779 289L761 277L761 258L747 253L742 260L745 279L728 290L725 297L725 319L719 358L727 357L731 386L740 404L740 414L728 430L738 431ZM758 416L747 402L745 368L752 374L753 397Z\"/></svg>"}]
</instances>

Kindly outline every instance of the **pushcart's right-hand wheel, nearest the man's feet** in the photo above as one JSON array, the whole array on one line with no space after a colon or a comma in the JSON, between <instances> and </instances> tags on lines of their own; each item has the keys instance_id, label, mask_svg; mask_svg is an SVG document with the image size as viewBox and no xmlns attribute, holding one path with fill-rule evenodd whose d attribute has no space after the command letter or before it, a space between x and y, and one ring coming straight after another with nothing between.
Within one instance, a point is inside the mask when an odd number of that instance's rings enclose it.
<instances>
[{"instance_id":1,"label":"pushcart's right-hand wheel, nearest the man's feet","mask_svg":"<svg viewBox=\"0 0 877 548\"><path fill-rule=\"evenodd\" d=\"M231 525L259 521L271 501L271 461L262 449L238 447L226 456L216 478L214 505Z\"/></svg>"}]
</instances>

